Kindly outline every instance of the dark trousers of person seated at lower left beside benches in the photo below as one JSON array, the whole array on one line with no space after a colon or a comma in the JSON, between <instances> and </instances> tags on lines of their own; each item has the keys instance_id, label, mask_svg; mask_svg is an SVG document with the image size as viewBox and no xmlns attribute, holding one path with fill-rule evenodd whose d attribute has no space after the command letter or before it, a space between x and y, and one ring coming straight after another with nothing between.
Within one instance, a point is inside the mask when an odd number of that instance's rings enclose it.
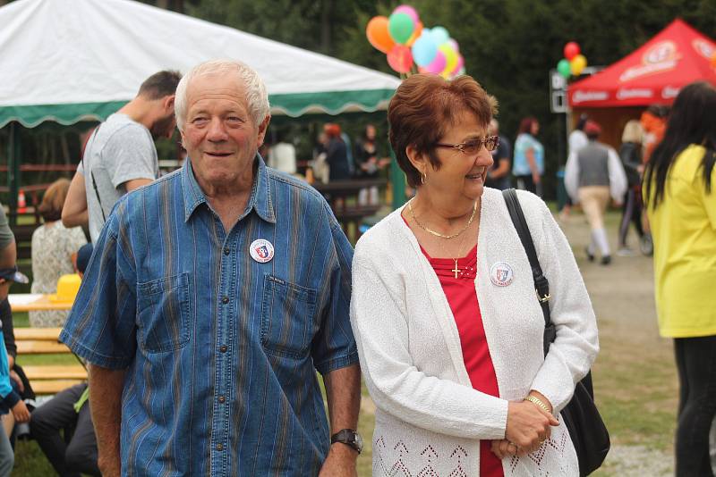
<instances>
[{"instance_id":1,"label":"dark trousers of person seated at lower left beside benches","mask_svg":"<svg viewBox=\"0 0 716 477\"><path fill-rule=\"evenodd\" d=\"M90 401L75 412L87 384L64 389L32 412L30 432L60 477L80 473L101 475L97 466L97 439L90 417ZM74 430L72 432L72 429ZM60 431L64 431L64 438ZM72 433L71 439L69 438Z\"/></svg>"}]
</instances>

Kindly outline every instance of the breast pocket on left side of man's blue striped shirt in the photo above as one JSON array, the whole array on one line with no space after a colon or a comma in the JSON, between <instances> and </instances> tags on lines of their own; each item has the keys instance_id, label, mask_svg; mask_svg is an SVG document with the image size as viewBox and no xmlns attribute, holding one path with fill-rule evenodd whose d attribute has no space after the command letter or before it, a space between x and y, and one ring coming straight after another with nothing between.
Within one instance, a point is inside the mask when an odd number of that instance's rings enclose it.
<instances>
[{"instance_id":1,"label":"breast pocket on left side of man's blue striped shirt","mask_svg":"<svg viewBox=\"0 0 716 477\"><path fill-rule=\"evenodd\" d=\"M139 283L139 344L149 353L174 351L189 342L189 274Z\"/></svg>"}]
</instances>

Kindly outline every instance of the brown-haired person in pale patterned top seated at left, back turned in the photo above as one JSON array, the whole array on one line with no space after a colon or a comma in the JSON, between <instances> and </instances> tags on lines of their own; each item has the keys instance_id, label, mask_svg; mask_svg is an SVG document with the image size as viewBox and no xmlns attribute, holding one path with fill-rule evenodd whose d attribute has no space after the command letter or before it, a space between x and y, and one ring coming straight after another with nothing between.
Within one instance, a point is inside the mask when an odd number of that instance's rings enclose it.
<instances>
[{"instance_id":1,"label":"brown-haired person in pale patterned top seated at left, back turned","mask_svg":"<svg viewBox=\"0 0 716 477\"><path fill-rule=\"evenodd\" d=\"M57 279L74 272L72 257L87 243L80 227L67 229L60 220L64 198L70 189L70 181L58 179L53 182L38 206L45 222L32 232L32 293L55 293ZM30 326L60 327L67 320L66 311L30 312Z\"/></svg>"}]
</instances>

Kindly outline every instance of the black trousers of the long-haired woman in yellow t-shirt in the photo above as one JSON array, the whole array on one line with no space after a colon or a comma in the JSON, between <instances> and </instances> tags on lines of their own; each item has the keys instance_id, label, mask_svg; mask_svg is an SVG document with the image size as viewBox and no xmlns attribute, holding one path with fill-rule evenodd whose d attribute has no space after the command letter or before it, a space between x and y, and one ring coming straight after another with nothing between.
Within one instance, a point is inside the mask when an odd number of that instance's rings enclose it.
<instances>
[{"instance_id":1,"label":"black trousers of the long-haired woman in yellow t-shirt","mask_svg":"<svg viewBox=\"0 0 716 477\"><path fill-rule=\"evenodd\" d=\"M709 431L716 415L716 336L674 339L679 389L677 477L712 477Z\"/></svg>"}]
</instances>

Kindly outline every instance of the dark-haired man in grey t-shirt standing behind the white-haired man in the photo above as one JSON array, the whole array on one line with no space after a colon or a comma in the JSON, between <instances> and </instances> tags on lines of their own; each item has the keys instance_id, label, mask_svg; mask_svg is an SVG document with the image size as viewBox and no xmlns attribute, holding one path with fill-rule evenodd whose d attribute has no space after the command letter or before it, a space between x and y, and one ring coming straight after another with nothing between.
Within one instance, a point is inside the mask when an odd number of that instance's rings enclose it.
<instances>
[{"instance_id":1,"label":"dark-haired man in grey t-shirt standing behind the white-haired man","mask_svg":"<svg viewBox=\"0 0 716 477\"><path fill-rule=\"evenodd\" d=\"M94 243L116 201L157 179L154 140L174 133L174 97L181 78L176 71L151 75L132 101L91 133L64 201L65 227L89 222Z\"/></svg>"}]
</instances>

